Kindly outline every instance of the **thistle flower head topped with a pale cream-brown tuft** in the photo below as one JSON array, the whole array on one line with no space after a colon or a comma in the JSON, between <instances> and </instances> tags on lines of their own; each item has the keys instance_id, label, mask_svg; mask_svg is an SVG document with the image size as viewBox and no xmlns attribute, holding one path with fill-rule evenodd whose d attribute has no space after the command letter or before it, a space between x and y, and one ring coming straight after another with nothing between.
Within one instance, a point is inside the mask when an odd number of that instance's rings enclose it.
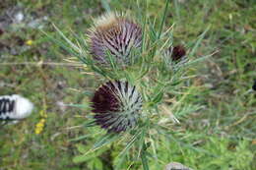
<instances>
[{"instance_id":1,"label":"thistle flower head topped with a pale cream-brown tuft","mask_svg":"<svg viewBox=\"0 0 256 170\"><path fill-rule=\"evenodd\" d=\"M109 13L96 21L89 34L90 52L97 62L108 64L108 56L116 63L129 63L133 48L142 43L142 29L134 22L118 14Z\"/></svg>"}]
</instances>

